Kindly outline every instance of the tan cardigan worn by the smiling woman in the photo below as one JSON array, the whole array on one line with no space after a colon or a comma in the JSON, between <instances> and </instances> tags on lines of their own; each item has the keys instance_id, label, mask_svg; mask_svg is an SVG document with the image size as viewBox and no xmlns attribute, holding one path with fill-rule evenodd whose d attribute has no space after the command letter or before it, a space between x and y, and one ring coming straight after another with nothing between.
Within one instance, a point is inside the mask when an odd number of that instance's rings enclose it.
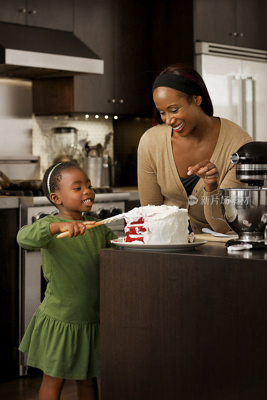
<instances>
[{"instance_id":1,"label":"tan cardigan worn by the smiling woman","mask_svg":"<svg viewBox=\"0 0 267 400\"><path fill-rule=\"evenodd\" d=\"M251 136L240 126L220 118L221 126L217 144L210 158L218 170L219 187L246 187L235 178L235 165L230 161L232 152L252 141ZM179 178L173 158L171 126L159 124L148 129L138 146L138 190L141 205L178 205L187 208L194 233L201 233L203 227L217 232L229 230L226 222L211 218L211 195L218 194L218 188L211 193L204 190L204 181L196 183L188 203L186 191ZM213 215L222 218L220 200L213 200Z\"/></svg>"}]
</instances>

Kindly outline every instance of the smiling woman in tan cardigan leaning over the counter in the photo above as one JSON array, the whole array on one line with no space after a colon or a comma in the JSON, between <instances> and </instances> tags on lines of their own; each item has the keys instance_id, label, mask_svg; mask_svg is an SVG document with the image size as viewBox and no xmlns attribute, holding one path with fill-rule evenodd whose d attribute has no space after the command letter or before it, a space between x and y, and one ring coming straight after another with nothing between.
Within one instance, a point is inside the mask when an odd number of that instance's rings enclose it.
<instances>
[{"instance_id":1,"label":"smiling woman in tan cardigan leaning over the counter","mask_svg":"<svg viewBox=\"0 0 267 400\"><path fill-rule=\"evenodd\" d=\"M213 116L202 77L189 65L164 68L153 85L154 126L138 146L138 190L141 205L188 208L189 231L203 227L225 233L219 187L242 187L230 155L252 138L240 126ZM161 118L161 122L160 122Z\"/></svg>"}]
</instances>

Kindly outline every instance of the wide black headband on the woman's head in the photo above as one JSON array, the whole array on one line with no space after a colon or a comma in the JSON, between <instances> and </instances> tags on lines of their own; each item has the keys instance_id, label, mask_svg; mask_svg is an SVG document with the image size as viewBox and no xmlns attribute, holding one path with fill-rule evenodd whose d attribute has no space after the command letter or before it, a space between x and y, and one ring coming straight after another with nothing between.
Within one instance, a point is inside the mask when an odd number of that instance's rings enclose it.
<instances>
[{"instance_id":1,"label":"wide black headband on the woman's head","mask_svg":"<svg viewBox=\"0 0 267 400\"><path fill-rule=\"evenodd\" d=\"M194 82L187 79L183 75L177 75L176 73L162 73L158 75L153 84L152 92L156 87L171 87L172 89L182 91L187 94L199 95L199 88Z\"/></svg>"}]
</instances>

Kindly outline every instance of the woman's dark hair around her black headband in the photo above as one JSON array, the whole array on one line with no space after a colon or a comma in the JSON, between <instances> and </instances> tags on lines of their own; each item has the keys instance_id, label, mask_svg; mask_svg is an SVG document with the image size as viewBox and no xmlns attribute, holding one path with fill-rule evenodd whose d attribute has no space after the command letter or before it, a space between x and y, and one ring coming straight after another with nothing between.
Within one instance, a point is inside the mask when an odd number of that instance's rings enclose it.
<instances>
[{"instance_id":1,"label":"woman's dark hair around her black headband","mask_svg":"<svg viewBox=\"0 0 267 400\"><path fill-rule=\"evenodd\" d=\"M202 79L202 77L199 75L199 73L195 70L195 68L193 68L191 65L187 65L187 64L172 64L172 65L168 65L165 68L163 68L160 71L159 75L161 75L162 73L176 73L177 75L183 75L187 79L194 82L194 85L197 86L197 88L198 88L198 93L202 97L202 102L200 104L200 107L203 109L203 111L207 115L209 115L209 116L213 115L213 105L212 105L210 96L208 94L208 90L206 88L205 82ZM189 103L192 102L193 96L191 94L186 94L183 92L181 92L181 93L184 94L184 97L186 97L186 99ZM160 117L159 111L156 109L156 106L155 106L153 126L158 125L159 123L163 123L163 121Z\"/></svg>"}]
</instances>

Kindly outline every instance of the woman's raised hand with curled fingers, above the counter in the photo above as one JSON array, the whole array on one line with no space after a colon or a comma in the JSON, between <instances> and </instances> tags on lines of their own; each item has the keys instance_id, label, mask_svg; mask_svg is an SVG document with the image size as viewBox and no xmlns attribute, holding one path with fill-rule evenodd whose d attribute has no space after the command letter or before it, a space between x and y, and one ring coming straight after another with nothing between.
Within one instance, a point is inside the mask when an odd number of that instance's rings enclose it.
<instances>
[{"instance_id":1,"label":"woman's raised hand with curled fingers, above the counter","mask_svg":"<svg viewBox=\"0 0 267 400\"><path fill-rule=\"evenodd\" d=\"M218 186L219 171L209 159L188 167L187 175L198 175L204 180L205 190L211 192Z\"/></svg>"}]
</instances>

